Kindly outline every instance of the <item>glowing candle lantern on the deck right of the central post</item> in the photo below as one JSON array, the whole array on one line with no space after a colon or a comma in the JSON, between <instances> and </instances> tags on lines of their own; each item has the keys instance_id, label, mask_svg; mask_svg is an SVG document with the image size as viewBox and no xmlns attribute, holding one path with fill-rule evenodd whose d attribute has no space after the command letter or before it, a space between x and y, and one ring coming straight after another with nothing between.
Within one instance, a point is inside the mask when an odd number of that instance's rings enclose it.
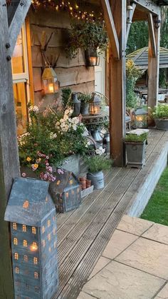
<instances>
[{"instance_id":1,"label":"glowing candle lantern on the deck right of the central post","mask_svg":"<svg viewBox=\"0 0 168 299\"><path fill-rule=\"evenodd\" d=\"M137 110L132 113L132 120L134 122L135 128L147 128L147 110L145 108L137 108Z\"/></svg>"}]
</instances>

